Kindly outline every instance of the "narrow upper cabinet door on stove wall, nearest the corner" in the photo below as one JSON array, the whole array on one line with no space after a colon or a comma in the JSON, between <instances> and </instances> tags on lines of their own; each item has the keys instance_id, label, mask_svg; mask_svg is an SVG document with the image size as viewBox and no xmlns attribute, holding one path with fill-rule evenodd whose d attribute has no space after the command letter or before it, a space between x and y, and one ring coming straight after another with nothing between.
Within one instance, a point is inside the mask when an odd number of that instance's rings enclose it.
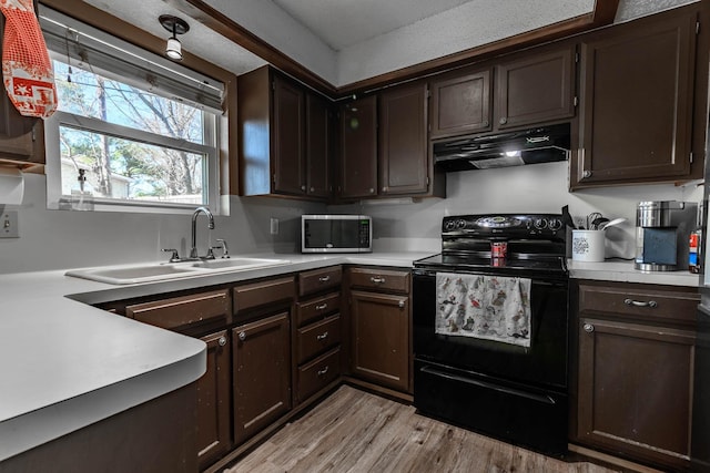
<instances>
[{"instance_id":1,"label":"narrow upper cabinet door on stove wall, nearest the corner","mask_svg":"<svg viewBox=\"0 0 710 473\"><path fill-rule=\"evenodd\" d=\"M377 194L377 99L375 95L341 107L339 197Z\"/></svg>"}]
</instances>

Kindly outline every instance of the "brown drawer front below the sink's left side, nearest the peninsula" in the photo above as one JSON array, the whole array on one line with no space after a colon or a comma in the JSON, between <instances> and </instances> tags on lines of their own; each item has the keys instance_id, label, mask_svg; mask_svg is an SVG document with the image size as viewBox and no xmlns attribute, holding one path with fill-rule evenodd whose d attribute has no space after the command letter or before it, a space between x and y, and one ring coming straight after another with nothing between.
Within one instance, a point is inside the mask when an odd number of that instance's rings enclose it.
<instances>
[{"instance_id":1,"label":"brown drawer front below the sink's left side, nearest the peninsula","mask_svg":"<svg viewBox=\"0 0 710 473\"><path fill-rule=\"evenodd\" d=\"M126 306L126 317L165 329L230 316L230 292L216 290Z\"/></svg>"}]
</instances>

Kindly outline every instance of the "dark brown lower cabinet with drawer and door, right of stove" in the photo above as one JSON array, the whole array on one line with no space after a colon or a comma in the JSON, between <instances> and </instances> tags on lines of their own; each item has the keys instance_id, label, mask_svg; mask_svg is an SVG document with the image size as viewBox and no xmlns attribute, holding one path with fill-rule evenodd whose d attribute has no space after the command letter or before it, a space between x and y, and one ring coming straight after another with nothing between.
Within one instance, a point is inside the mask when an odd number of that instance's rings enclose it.
<instances>
[{"instance_id":1,"label":"dark brown lower cabinet with drawer and door, right of stove","mask_svg":"<svg viewBox=\"0 0 710 473\"><path fill-rule=\"evenodd\" d=\"M696 332L683 319L694 316L697 295L639 286L581 287L577 440L687 470Z\"/></svg>"}]
</instances>

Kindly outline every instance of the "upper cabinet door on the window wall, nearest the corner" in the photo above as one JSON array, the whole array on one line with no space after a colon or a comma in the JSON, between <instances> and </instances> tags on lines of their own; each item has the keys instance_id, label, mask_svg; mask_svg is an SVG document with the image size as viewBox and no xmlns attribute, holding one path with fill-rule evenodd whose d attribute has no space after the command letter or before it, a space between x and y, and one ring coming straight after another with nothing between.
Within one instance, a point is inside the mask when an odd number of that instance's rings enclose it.
<instances>
[{"instance_id":1,"label":"upper cabinet door on the window wall, nearest the corner","mask_svg":"<svg viewBox=\"0 0 710 473\"><path fill-rule=\"evenodd\" d=\"M335 133L333 113L325 99L306 95L306 193L313 197L331 196L331 150Z\"/></svg>"}]
</instances>

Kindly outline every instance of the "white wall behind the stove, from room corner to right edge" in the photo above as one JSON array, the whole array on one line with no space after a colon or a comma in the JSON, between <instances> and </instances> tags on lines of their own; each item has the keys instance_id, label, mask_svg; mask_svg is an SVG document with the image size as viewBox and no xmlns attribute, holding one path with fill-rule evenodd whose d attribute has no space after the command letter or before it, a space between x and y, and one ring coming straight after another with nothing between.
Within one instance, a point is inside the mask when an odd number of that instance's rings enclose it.
<instances>
[{"instance_id":1,"label":"white wall behind the stove, from room corner to right edge","mask_svg":"<svg viewBox=\"0 0 710 473\"><path fill-rule=\"evenodd\" d=\"M568 192L569 163L535 164L498 169L466 171L447 175L447 198L420 203L331 206L334 213L373 216L374 248L381 251L440 249L442 218L446 215L496 213L559 214L564 205L576 218L591 212L625 217L627 223L607 230L607 257L632 258L636 205L641 200L701 202L702 187L672 184L604 187Z\"/></svg>"}]
</instances>

